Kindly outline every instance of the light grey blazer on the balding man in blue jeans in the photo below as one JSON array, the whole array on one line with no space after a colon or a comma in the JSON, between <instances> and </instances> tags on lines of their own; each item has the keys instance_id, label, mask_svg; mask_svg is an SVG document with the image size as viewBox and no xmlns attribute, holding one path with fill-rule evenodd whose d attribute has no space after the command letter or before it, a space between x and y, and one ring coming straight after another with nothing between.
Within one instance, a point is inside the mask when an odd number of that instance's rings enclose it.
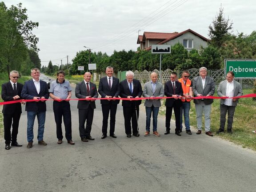
<instances>
[{"instance_id":1,"label":"light grey blazer on the balding man in blue jeans","mask_svg":"<svg viewBox=\"0 0 256 192\"><path fill-rule=\"evenodd\" d=\"M156 81L156 90L153 92L153 88L151 85L151 81L144 84L143 94L144 97L150 97L150 96L164 96L164 88L161 83ZM145 100L144 106L146 107L161 107L161 101L160 100Z\"/></svg>"}]
</instances>

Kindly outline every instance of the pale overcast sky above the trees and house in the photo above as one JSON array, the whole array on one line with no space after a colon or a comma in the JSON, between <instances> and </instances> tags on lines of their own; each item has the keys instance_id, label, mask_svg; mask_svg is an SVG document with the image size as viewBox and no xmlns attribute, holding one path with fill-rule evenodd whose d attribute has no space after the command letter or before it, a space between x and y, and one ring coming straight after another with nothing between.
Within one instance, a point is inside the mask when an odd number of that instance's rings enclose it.
<instances>
[{"instance_id":1,"label":"pale overcast sky above the trees and house","mask_svg":"<svg viewBox=\"0 0 256 192\"><path fill-rule=\"evenodd\" d=\"M136 50L138 31L182 32L188 28L208 38L220 5L232 20L233 33L256 30L255 0L4 0L22 3L28 19L39 22L34 34L42 65L68 61L84 46L92 52Z\"/></svg>"}]
</instances>

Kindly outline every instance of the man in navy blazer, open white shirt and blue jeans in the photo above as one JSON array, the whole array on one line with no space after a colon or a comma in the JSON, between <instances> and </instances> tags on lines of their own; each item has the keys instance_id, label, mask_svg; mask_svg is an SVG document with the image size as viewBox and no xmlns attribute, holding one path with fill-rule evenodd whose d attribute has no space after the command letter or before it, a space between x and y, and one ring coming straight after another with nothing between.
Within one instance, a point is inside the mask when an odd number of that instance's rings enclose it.
<instances>
[{"instance_id":1,"label":"man in navy blazer, open white shirt and blue jeans","mask_svg":"<svg viewBox=\"0 0 256 192\"><path fill-rule=\"evenodd\" d=\"M39 80L40 70L38 68L31 69L32 79L25 82L23 89L21 91L21 97L26 100L35 100L26 103L25 110L27 111L28 117L28 127L27 127L27 148L32 148L33 146L33 127L35 118L37 116L38 120L38 135L37 140L39 145L47 145L44 142L44 123L45 123L45 113L46 104L42 99L49 98L47 83Z\"/></svg>"}]
</instances>

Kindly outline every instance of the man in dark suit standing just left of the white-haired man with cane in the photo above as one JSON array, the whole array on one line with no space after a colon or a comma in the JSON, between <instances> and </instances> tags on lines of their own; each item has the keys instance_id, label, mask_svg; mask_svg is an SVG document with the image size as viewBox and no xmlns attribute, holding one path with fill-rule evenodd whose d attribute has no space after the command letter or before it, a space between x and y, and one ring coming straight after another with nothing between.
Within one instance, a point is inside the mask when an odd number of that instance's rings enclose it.
<instances>
[{"instance_id":1,"label":"man in dark suit standing just left of the white-haired man with cane","mask_svg":"<svg viewBox=\"0 0 256 192\"><path fill-rule=\"evenodd\" d=\"M106 68L106 77L102 77L100 79L99 84L99 93L102 98L116 98L119 96L120 92L120 84L119 79L113 77L113 68L108 66ZM115 124L116 124L116 108L117 104L119 104L120 100L100 100L101 108L102 108L102 133L101 139L105 139L107 137L107 129L108 129L108 115L110 112L110 130L109 136L116 138L115 132Z\"/></svg>"}]
</instances>

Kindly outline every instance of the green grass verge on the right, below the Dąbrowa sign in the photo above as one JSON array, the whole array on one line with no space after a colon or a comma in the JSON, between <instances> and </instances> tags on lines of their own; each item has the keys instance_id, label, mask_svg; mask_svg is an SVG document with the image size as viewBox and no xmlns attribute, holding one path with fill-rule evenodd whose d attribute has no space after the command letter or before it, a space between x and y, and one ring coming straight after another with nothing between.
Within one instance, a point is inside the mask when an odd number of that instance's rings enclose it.
<instances>
[{"instance_id":1,"label":"green grass verge on the right, below the D\u0105browa sign","mask_svg":"<svg viewBox=\"0 0 256 192\"><path fill-rule=\"evenodd\" d=\"M244 95L252 93L251 89L243 90ZM165 106L162 104L160 115L165 116ZM175 116L172 116L175 119ZM196 128L196 109L193 101L190 108L190 125ZM203 118L204 127L204 118ZM253 130L256 130L256 101L252 98L241 98L236 107L233 122L233 134L227 132L216 134L216 131L220 128L220 100L214 100L211 110L211 131L214 136L219 136L225 140L232 141L235 144L241 145L244 148L251 148L256 151L256 134ZM227 131L227 120L225 131Z\"/></svg>"}]
</instances>

